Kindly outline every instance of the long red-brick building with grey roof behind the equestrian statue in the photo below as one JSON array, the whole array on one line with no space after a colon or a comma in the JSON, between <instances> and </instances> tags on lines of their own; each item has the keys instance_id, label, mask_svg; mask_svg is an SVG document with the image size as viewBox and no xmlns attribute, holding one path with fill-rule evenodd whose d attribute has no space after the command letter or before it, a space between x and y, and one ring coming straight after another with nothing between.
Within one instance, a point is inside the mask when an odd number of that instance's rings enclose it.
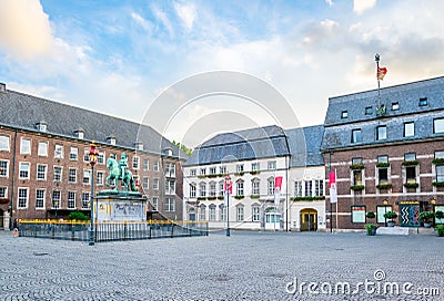
<instances>
[{"instance_id":1,"label":"long red-brick building with grey roof behind the equestrian statue","mask_svg":"<svg viewBox=\"0 0 444 301\"><path fill-rule=\"evenodd\" d=\"M0 84L0 228L13 218L90 212L91 142L99 149L94 191L107 187L108 157L128 156L148 218L182 217L185 155L147 125L22 94Z\"/></svg>"}]
</instances>

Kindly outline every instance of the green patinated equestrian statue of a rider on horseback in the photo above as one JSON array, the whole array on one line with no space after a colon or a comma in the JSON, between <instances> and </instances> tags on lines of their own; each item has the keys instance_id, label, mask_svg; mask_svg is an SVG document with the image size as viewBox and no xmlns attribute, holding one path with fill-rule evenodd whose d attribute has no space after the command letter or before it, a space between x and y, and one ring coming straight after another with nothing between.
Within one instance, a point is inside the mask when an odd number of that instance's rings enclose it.
<instances>
[{"instance_id":1,"label":"green patinated equestrian statue of a rider on horseback","mask_svg":"<svg viewBox=\"0 0 444 301\"><path fill-rule=\"evenodd\" d=\"M107 186L113 186L114 190L118 190L118 180L121 180L124 190L138 191L132 173L128 169L128 157L124 153L122 153L119 162L109 157L107 159L107 168L109 172Z\"/></svg>"}]
</instances>

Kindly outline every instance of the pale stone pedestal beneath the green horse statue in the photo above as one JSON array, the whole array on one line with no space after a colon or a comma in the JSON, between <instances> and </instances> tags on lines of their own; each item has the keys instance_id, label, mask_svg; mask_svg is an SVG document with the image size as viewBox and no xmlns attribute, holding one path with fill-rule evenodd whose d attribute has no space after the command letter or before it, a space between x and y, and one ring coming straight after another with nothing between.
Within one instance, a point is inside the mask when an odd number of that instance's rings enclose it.
<instances>
[{"instance_id":1,"label":"pale stone pedestal beneath the green horse statue","mask_svg":"<svg viewBox=\"0 0 444 301\"><path fill-rule=\"evenodd\" d=\"M94 219L100 221L145 221L148 198L140 193L103 190L94 197Z\"/></svg>"}]
</instances>

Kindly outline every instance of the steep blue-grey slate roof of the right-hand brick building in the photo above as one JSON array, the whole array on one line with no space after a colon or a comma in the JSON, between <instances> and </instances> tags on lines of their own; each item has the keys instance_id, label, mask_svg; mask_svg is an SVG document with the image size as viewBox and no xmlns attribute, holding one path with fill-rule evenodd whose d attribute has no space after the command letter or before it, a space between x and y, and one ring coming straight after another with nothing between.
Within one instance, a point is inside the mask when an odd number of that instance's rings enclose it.
<instances>
[{"instance_id":1,"label":"steep blue-grey slate roof of the right-hand brick building","mask_svg":"<svg viewBox=\"0 0 444 301\"><path fill-rule=\"evenodd\" d=\"M322 149L377 145L443 136L434 134L433 120L444 117L444 76L329 98ZM420 105L420 100L426 105ZM376 107L385 113L377 115ZM366 110L369 108L369 110ZM367 112L366 112L367 111ZM342 117L342 112L347 117ZM366 114L367 113L367 114ZM404 123L414 122L415 134L404 137ZM386 138L376 139L376 127L386 126ZM362 142L352 143L352 129L361 129Z\"/></svg>"}]
</instances>

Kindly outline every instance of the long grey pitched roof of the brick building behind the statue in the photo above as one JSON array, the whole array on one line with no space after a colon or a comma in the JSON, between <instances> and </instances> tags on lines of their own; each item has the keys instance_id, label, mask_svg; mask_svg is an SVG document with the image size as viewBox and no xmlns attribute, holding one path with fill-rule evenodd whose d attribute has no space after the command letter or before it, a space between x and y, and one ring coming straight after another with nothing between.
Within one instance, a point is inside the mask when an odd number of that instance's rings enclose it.
<instances>
[{"instance_id":1,"label":"long grey pitched roof of the brick building behind the statue","mask_svg":"<svg viewBox=\"0 0 444 301\"><path fill-rule=\"evenodd\" d=\"M49 134L77 138L73 133L82 129L85 141L107 144L112 136L117 146L134 148L135 142L142 142L143 149L150 153L161 154L171 148L174 157L186 156L148 125L11 90L0 92L0 123L7 126L36 131L36 124L44 121Z\"/></svg>"}]
</instances>

